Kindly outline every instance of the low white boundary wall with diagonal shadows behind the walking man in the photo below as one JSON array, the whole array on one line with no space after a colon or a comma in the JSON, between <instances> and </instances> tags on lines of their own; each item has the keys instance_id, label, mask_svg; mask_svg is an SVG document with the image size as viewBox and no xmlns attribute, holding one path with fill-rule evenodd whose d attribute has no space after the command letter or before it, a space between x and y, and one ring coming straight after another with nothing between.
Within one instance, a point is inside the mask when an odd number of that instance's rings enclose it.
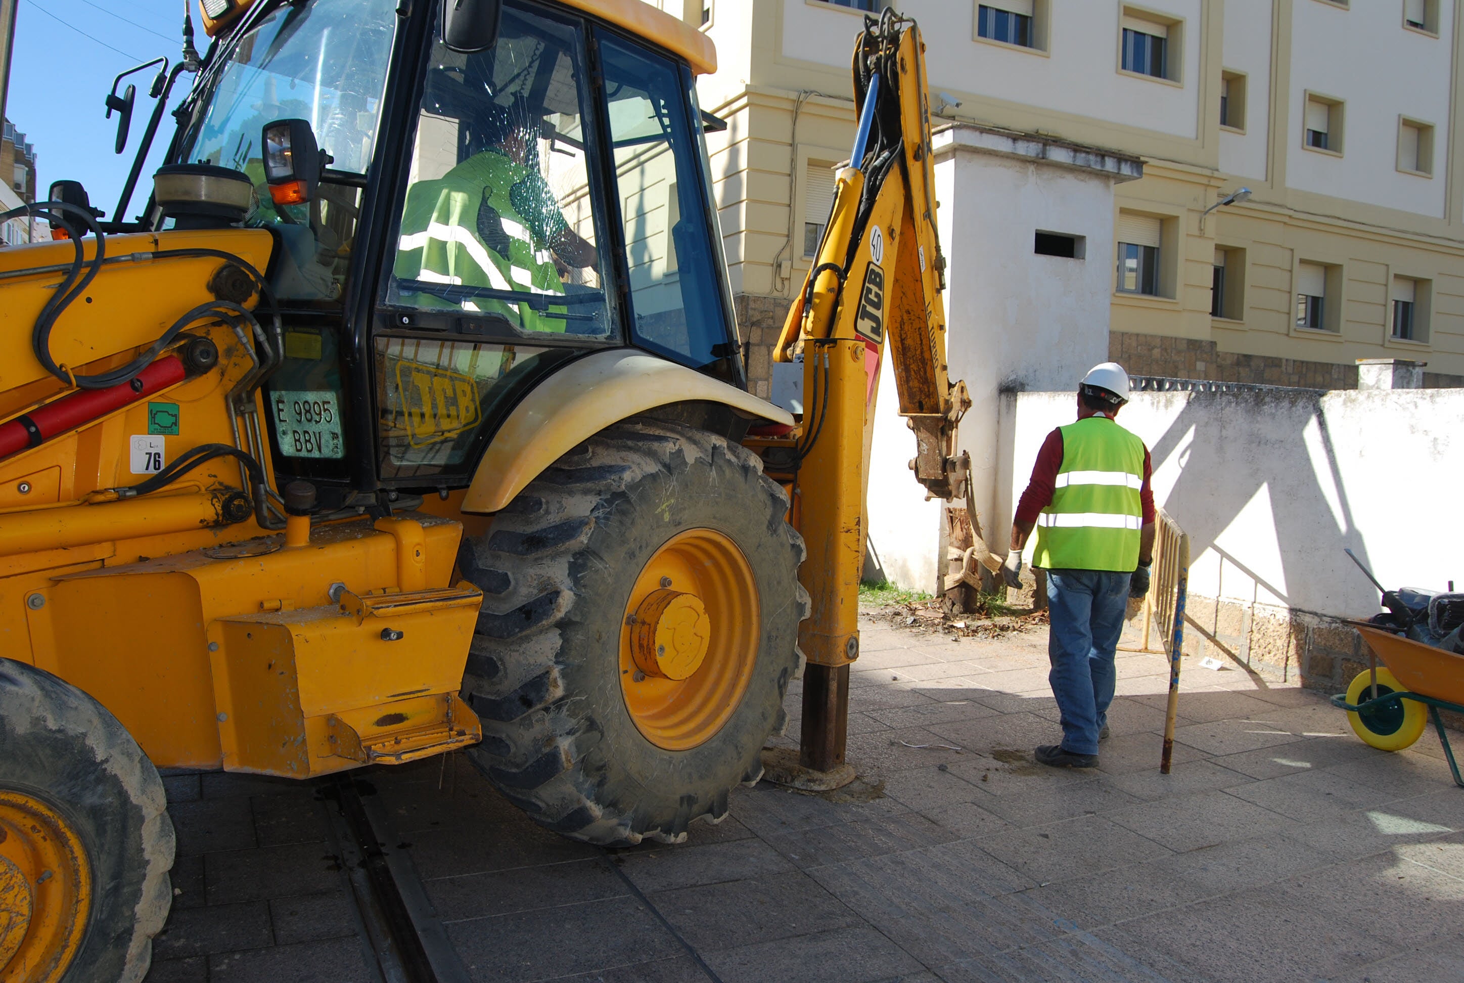
<instances>
[{"instance_id":1,"label":"low white boundary wall with diagonal shadows behind the walking man","mask_svg":"<svg viewBox=\"0 0 1464 983\"><path fill-rule=\"evenodd\" d=\"M1010 403L1015 501L1076 412L1070 391ZM1348 546L1389 587L1464 586L1460 419L1464 390L1138 393L1118 416L1190 535L1192 593L1334 617L1379 609Z\"/></svg>"}]
</instances>

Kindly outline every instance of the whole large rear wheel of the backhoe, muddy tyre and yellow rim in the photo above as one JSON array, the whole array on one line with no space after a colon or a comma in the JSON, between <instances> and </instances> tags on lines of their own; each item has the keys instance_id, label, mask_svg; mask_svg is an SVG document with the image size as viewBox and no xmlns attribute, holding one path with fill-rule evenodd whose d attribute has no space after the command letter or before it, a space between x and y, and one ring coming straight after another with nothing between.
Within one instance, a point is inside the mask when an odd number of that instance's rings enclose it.
<instances>
[{"instance_id":1,"label":"whole large rear wheel of the backhoe, muddy tyre and yellow rim","mask_svg":"<svg viewBox=\"0 0 1464 983\"><path fill-rule=\"evenodd\" d=\"M464 681L483 722L471 754L498 788L603 845L720 820L728 793L761 776L801 668L804 545L786 513L757 456L641 419L561 457L464 539L463 574L485 595Z\"/></svg>"}]
</instances>

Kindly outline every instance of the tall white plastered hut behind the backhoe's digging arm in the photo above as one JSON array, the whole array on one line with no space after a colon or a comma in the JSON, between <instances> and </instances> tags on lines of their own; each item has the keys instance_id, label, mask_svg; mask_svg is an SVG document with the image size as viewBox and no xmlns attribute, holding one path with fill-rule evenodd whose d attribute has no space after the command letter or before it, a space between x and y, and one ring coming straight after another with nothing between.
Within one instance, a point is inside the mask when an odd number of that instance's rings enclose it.
<instances>
[{"instance_id":1,"label":"tall white plastered hut behind the backhoe's digging arm","mask_svg":"<svg viewBox=\"0 0 1464 983\"><path fill-rule=\"evenodd\" d=\"M1000 390L1076 387L1108 357L1113 185L1092 171L943 151L947 136L937 136L935 163L941 248L950 270L946 349L952 379L965 379L972 400L959 448L971 453L987 539L1004 551L1006 527L993 524ZM1086 256L1035 255L1038 229L1085 236ZM871 451L870 536L892 580L930 590L935 546L918 530L938 529L938 505L922 501L911 476L915 442L897 413L895 382L884 374Z\"/></svg>"}]
</instances>

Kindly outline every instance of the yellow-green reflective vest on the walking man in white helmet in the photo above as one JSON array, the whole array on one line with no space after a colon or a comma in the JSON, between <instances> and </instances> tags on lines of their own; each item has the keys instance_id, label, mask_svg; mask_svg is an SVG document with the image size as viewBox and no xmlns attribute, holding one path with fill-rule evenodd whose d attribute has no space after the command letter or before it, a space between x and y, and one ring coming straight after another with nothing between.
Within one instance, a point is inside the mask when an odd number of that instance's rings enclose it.
<instances>
[{"instance_id":1,"label":"yellow-green reflective vest on the walking man in white helmet","mask_svg":"<svg viewBox=\"0 0 1464 983\"><path fill-rule=\"evenodd\" d=\"M1037 517L1032 565L1132 573L1143 526L1143 441L1107 416L1058 429L1063 464L1053 504Z\"/></svg>"}]
</instances>

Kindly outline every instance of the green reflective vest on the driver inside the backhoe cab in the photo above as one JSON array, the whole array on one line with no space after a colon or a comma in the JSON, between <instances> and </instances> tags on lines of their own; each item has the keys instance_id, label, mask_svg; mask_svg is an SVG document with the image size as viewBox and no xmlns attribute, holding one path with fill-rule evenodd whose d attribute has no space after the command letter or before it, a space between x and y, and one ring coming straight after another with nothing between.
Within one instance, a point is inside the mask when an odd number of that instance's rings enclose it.
<instances>
[{"instance_id":1,"label":"green reflective vest on the driver inside the backhoe cab","mask_svg":"<svg viewBox=\"0 0 1464 983\"><path fill-rule=\"evenodd\" d=\"M550 245L567 229L539 171L488 149L407 189L394 272L400 280L562 294ZM419 308L501 314L524 331L565 328L553 316L565 308L540 314L514 300L474 297L457 305L427 293L407 296Z\"/></svg>"}]
</instances>

